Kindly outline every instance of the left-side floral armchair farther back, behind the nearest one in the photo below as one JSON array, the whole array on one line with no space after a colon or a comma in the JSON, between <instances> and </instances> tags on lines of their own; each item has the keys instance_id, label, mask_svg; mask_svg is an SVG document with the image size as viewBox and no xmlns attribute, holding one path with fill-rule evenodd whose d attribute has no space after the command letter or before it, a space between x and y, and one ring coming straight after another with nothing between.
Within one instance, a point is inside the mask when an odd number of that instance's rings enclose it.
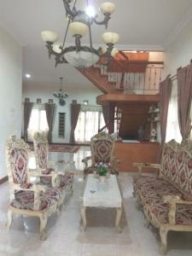
<instances>
[{"instance_id":1,"label":"left-side floral armchair farther back, behind the nearest one","mask_svg":"<svg viewBox=\"0 0 192 256\"><path fill-rule=\"evenodd\" d=\"M48 186L55 186L55 176L59 177L59 186L73 191L73 172L57 172L56 163L48 160L49 143L44 133L36 132L33 137L36 166L41 175L41 183ZM51 166L54 166L51 167ZM44 177L46 174L47 177Z\"/></svg>"}]
</instances>

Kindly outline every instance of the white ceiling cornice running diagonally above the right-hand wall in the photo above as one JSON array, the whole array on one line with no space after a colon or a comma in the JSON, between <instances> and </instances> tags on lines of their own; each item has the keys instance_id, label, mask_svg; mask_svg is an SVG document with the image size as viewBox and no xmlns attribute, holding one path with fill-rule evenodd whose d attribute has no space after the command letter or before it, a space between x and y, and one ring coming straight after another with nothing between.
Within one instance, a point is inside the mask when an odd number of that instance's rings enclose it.
<instances>
[{"instance_id":1,"label":"white ceiling cornice running diagonally above the right-hand wall","mask_svg":"<svg viewBox=\"0 0 192 256\"><path fill-rule=\"evenodd\" d=\"M177 26L172 30L172 32L169 34L169 36L166 38L164 43L162 44L162 49L166 49L166 47L172 43L172 41L177 38L177 35L179 35L180 32L183 31L184 26L187 26L189 24L189 21L192 20L192 6L184 15L183 19L177 24Z\"/></svg>"}]
</instances>

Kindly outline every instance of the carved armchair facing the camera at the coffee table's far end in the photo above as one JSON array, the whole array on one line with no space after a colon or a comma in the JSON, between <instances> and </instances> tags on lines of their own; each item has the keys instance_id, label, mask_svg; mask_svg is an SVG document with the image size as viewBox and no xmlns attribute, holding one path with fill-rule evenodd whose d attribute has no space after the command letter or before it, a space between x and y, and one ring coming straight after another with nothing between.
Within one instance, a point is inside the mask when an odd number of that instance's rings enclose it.
<instances>
[{"instance_id":1,"label":"carved armchair facing the camera at the coffee table's far end","mask_svg":"<svg viewBox=\"0 0 192 256\"><path fill-rule=\"evenodd\" d=\"M119 173L118 164L120 161L113 155L114 142L115 139L105 132L101 132L94 137L91 137L91 156L85 157L84 160L82 160L85 165L84 174L95 172L96 167L100 163L107 164L110 173Z\"/></svg>"}]
</instances>

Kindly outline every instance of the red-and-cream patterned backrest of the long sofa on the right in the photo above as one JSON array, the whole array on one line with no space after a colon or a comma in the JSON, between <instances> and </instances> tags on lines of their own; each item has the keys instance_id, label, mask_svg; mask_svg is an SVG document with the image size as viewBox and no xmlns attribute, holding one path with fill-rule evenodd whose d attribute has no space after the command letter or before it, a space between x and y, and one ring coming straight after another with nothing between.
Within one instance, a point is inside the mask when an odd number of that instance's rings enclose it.
<instances>
[{"instance_id":1,"label":"red-and-cream patterned backrest of the long sofa on the right","mask_svg":"<svg viewBox=\"0 0 192 256\"><path fill-rule=\"evenodd\" d=\"M160 177L185 194L192 195L192 143L166 143L161 158Z\"/></svg>"}]
</instances>

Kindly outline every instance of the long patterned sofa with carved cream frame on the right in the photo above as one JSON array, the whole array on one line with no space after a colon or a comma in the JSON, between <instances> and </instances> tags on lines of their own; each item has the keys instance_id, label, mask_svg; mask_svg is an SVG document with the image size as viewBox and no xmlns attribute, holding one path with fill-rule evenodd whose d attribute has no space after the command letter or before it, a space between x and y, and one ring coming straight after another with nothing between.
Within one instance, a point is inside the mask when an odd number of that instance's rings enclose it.
<instances>
[{"instance_id":1,"label":"long patterned sofa with carved cream frame on the right","mask_svg":"<svg viewBox=\"0 0 192 256\"><path fill-rule=\"evenodd\" d=\"M143 207L147 224L160 230L160 252L166 253L169 230L192 231L192 143L166 143L160 165L134 163L134 195ZM141 174L143 167L159 169L159 175Z\"/></svg>"}]
</instances>

